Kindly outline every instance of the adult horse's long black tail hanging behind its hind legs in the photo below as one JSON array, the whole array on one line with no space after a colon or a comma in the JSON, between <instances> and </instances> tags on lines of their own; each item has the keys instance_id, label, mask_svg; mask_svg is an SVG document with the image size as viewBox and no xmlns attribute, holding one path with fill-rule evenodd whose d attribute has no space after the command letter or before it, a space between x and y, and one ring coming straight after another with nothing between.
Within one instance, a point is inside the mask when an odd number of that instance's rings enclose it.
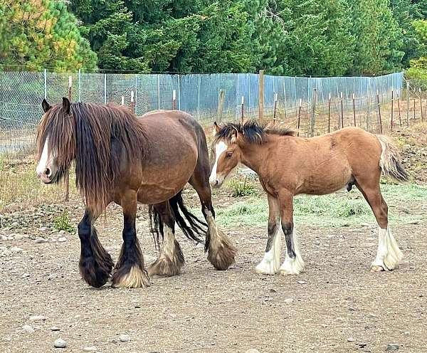
<instances>
[{"instance_id":1,"label":"adult horse's long black tail hanging behind its hind legs","mask_svg":"<svg viewBox=\"0 0 427 353\"><path fill-rule=\"evenodd\" d=\"M182 190L179 191L172 199L169 199L169 206L171 207L172 213L176 223L178 224L184 235L197 243L204 243L199 236L204 237L208 225L204 221L199 220L194 214L186 208L184 200L182 199ZM159 248L160 237L163 239L163 222L159 212L154 206L149 205L149 225L154 236L154 244L156 248Z\"/></svg>"}]
</instances>

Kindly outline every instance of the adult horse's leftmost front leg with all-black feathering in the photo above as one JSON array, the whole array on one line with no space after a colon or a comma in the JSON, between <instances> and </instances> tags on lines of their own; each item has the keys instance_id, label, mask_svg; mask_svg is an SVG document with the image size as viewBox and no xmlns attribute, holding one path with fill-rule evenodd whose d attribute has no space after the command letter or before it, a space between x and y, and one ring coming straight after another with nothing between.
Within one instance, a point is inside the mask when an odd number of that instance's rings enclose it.
<instances>
[{"instance_id":1,"label":"adult horse's leftmost front leg with all-black feathering","mask_svg":"<svg viewBox=\"0 0 427 353\"><path fill-rule=\"evenodd\" d=\"M97 237L97 231L93 226L96 218L97 216L86 209L85 215L78 223L81 245L79 268L83 280L89 285L99 288L107 283L114 263Z\"/></svg>"}]
</instances>

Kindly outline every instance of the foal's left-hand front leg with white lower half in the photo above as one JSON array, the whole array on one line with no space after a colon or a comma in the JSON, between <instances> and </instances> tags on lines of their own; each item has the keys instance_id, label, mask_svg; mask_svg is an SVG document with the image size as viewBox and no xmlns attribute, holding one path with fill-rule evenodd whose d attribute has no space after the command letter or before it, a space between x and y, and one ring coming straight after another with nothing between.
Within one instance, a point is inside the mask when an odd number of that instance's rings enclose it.
<instances>
[{"instance_id":1,"label":"foal's left-hand front leg with white lower half","mask_svg":"<svg viewBox=\"0 0 427 353\"><path fill-rule=\"evenodd\" d=\"M268 194L268 240L263 260L255 267L256 273L274 275L280 266L280 209L278 199Z\"/></svg>"}]
</instances>

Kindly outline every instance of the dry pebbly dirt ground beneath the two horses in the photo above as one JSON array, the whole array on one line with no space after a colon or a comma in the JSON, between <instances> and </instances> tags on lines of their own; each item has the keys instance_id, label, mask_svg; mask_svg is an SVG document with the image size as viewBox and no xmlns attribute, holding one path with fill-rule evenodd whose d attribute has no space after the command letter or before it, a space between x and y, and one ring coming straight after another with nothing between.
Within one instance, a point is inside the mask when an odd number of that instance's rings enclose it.
<instances>
[{"instance_id":1,"label":"dry pebbly dirt ground beneath the two horses","mask_svg":"<svg viewBox=\"0 0 427 353\"><path fill-rule=\"evenodd\" d=\"M401 147L418 156L404 154L410 169L411 163L417 167L427 160L411 134L401 140ZM194 191L186 191L184 199L194 204ZM235 201L226 191L214 195L217 208ZM389 206L395 214L408 210L406 204ZM386 352L387 344L398 344L399 352L427 352L427 202L412 209L422 221L392 229L405 258L391 272L369 272L376 253L374 223L356 228L300 224L304 272L255 274L265 248L265 225L223 229L238 247L236 264L226 271L214 270L203 248L179 232L184 273L130 290L110 284L90 288L80 279L78 236L51 227L63 208L38 206L1 215L1 353L89 352L90 347L104 353L244 353L251 348L344 353ZM75 226L83 204L76 199L66 209ZM156 254L143 208L137 224L150 262ZM110 207L97 228L117 260L120 208ZM121 342L121 334L130 341ZM67 342L65 349L53 347L58 338Z\"/></svg>"}]
</instances>

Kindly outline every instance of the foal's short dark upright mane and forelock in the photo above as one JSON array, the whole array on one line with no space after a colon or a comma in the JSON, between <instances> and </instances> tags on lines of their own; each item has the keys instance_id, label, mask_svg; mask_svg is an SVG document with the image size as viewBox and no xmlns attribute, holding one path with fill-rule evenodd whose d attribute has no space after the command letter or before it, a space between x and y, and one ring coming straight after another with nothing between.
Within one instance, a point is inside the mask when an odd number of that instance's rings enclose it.
<instances>
[{"instance_id":1,"label":"foal's short dark upright mane and forelock","mask_svg":"<svg viewBox=\"0 0 427 353\"><path fill-rule=\"evenodd\" d=\"M258 123L256 120L248 120L244 124L228 122L216 132L214 142L220 139L230 140L233 137L233 131L240 132L251 144L262 144L267 135L295 136L295 131L288 128L279 129L276 127L267 127L266 124Z\"/></svg>"}]
</instances>

